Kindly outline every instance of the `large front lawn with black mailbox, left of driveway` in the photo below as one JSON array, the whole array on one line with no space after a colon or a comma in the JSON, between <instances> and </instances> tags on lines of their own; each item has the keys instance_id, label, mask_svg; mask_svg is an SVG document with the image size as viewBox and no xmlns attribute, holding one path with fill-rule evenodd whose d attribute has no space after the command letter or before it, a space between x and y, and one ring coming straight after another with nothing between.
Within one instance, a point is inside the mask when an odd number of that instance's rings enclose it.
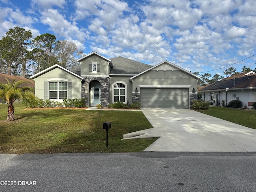
<instances>
[{"instance_id":1,"label":"large front lawn with black mailbox, left of driveway","mask_svg":"<svg viewBox=\"0 0 256 192\"><path fill-rule=\"evenodd\" d=\"M141 152L157 138L121 140L122 135L152 128L141 111L25 109L15 104L15 121L6 122L0 105L0 153ZM106 148L104 122L111 122Z\"/></svg>"}]
</instances>

